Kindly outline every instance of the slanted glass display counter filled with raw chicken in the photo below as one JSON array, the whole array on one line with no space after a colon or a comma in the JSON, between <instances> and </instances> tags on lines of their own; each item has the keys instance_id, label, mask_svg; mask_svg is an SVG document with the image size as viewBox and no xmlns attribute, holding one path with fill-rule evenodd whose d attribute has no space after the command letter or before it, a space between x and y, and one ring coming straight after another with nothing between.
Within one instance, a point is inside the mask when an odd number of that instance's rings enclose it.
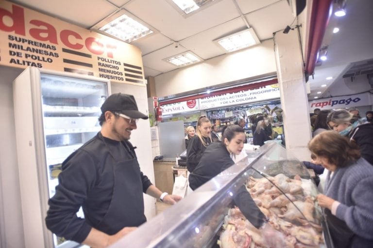
<instances>
[{"instance_id":1,"label":"slanted glass display counter filled with raw chicken","mask_svg":"<svg viewBox=\"0 0 373 248\"><path fill-rule=\"evenodd\" d=\"M244 184L282 233L276 247L332 247L308 170L282 145L269 142L111 248L273 247L234 205Z\"/></svg>"}]
</instances>

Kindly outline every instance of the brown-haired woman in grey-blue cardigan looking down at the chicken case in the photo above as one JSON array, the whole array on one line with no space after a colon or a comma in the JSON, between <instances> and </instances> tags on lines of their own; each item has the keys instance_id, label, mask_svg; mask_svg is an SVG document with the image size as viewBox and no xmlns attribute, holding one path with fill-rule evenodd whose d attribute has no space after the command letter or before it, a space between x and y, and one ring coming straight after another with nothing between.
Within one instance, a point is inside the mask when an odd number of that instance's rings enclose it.
<instances>
[{"instance_id":1,"label":"brown-haired woman in grey-blue cardigan looking down at the chicken case","mask_svg":"<svg viewBox=\"0 0 373 248\"><path fill-rule=\"evenodd\" d=\"M315 136L308 149L329 171L317 201L334 247L373 247L373 167L360 157L356 143L333 131Z\"/></svg>"}]
</instances>

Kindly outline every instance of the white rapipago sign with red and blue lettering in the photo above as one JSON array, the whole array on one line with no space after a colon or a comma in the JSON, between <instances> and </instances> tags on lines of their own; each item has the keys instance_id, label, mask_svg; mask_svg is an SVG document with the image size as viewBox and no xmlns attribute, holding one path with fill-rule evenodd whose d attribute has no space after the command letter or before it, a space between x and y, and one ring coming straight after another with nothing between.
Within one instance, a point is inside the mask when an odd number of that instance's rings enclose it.
<instances>
[{"instance_id":1,"label":"white rapipago sign with red and blue lettering","mask_svg":"<svg viewBox=\"0 0 373 248\"><path fill-rule=\"evenodd\" d=\"M372 105L369 93L349 96L330 97L309 102L309 110L314 109L345 109L350 107Z\"/></svg>"}]
</instances>

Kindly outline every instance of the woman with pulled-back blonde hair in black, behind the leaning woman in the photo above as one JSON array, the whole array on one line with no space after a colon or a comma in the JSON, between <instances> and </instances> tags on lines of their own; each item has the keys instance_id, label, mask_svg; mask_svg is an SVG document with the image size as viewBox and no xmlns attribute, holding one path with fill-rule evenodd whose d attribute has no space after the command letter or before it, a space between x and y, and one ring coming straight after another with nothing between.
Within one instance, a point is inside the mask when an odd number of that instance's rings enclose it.
<instances>
[{"instance_id":1,"label":"woman with pulled-back blonde hair in black, behind the leaning woman","mask_svg":"<svg viewBox=\"0 0 373 248\"><path fill-rule=\"evenodd\" d=\"M197 135L189 141L186 149L186 168L189 172L196 168L204 150L211 143L211 122L206 116L202 115L198 118Z\"/></svg>"}]
</instances>

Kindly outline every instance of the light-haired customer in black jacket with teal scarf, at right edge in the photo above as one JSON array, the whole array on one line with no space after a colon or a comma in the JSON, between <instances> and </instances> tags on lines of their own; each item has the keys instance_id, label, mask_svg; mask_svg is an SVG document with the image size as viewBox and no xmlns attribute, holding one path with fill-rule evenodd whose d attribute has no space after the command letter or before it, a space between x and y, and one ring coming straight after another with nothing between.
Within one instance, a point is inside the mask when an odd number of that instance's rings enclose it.
<instances>
[{"instance_id":1,"label":"light-haired customer in black jacket with teal scarf, at right edge","mask_svg":"<svg viewBox=\"0 0 373 248\"><path fill-rule=\"evenodd\" d=\"M358 119L346 109L336 109L328 114L327 124L330 129L350 138L360 147L361 156L373 165L373 123Z\"/></svg>"}]
</instances>

